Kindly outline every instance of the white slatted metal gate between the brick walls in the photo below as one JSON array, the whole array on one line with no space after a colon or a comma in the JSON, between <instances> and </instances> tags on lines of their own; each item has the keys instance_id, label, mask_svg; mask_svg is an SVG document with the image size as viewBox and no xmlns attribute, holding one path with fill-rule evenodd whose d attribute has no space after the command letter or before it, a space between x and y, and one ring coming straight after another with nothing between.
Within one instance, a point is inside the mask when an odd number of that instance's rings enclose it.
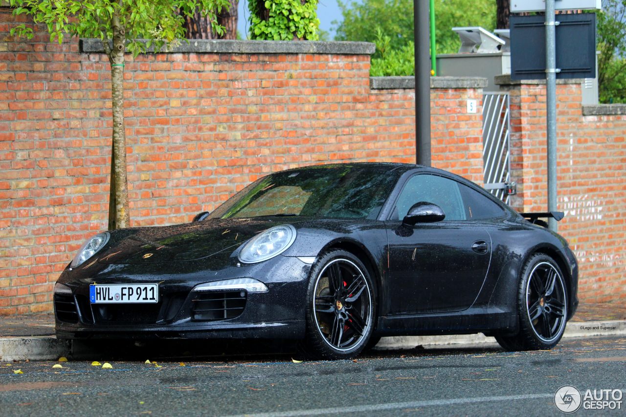
<instances>
[{"instance_id":1,"label":"white slatted metal gate between the brick walls","mask_svg":"<svg viewBox=\"0 0 626 417\"><path fill-rule=\"evenodd\" d=\"M510 180L510 118L508 93L483 95L483 163L485 189L508 203L515 193Z\"/></svg>"}]
</instances>

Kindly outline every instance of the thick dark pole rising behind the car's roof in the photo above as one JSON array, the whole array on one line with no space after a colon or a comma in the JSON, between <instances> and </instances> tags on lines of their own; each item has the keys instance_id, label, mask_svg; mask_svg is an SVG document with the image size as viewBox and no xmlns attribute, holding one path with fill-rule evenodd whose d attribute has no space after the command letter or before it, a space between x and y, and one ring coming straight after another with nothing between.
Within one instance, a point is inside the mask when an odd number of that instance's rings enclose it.
<instances>
[{"instance_id":1,"label":"thick dark pole rising behind the car's roof","mask_svg":"<svg viewBox=\"0 0 626 417\"><path fill-rule=\"evenodd\" d=\"M415 29L415 145L416 162L431 165L430 56L428 53L428 2L413 0Z\"/></svg>"}]
</instances>

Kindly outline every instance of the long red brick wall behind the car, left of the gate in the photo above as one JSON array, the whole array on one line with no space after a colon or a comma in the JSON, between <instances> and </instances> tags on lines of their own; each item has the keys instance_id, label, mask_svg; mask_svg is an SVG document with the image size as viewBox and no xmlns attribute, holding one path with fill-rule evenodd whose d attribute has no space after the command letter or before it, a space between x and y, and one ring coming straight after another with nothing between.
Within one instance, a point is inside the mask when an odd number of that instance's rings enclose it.
<instances>
[{"instance_id":1,"label":"long red brick wall behind the car, left of the gate","mask_svg":"<svg viewBox=\"0 0 626 417\"><path fill-rule=\"evenodd\" d=\"M51 311L82 242L106 229L110 66L0 13L0 314ZM371 90L369 55L127 56L132 225L188 222L265 173L414 162L414 91ZM480 88L433 89L433 165L482 182ZM473 160L473 162L472 162Z\"/></svg>"}]
</instances>

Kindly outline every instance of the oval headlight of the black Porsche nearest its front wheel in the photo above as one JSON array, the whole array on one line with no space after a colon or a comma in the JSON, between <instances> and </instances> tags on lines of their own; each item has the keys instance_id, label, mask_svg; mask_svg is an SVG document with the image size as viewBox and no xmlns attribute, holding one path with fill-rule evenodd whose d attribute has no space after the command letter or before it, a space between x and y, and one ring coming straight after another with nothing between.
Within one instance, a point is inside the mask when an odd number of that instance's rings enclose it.
<instances>
[{"instance_id":1,"label":"oval headlight of the black Porsche nearest its front wheel","mask_svg":"<svg viewBox=\"0 0 626 417\"><path fill-rule=\"evenodd\" d=\"M295 228L292 225L272 227L250 239L239 252L239 260L244 264L254 264L270 259L287 250L294 240Z\"/></svg>"}]
</instances>

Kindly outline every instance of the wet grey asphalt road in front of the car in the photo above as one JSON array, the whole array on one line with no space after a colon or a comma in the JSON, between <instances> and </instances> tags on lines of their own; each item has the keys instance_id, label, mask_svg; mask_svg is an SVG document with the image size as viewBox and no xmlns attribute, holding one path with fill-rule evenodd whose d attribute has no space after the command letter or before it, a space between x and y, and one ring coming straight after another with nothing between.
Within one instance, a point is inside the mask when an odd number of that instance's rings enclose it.
<instances>
[{"instance_id":1,"label":"wet grey asphalt road in front of the car","mask_svg":"<svg viewBox=\"0 0 626 417\"><path fill-rule=\"evenodd\" d=\"M554 396L564 385L583 395L626 389L626 339L617 337L570 339L552 351L373 351L335 362L294 363L282 354L111 361L113 369L54 364L0 363L0 415L557 416ZM574 415L623 416L624 406Z\"/></svg>"}]
</instances>

